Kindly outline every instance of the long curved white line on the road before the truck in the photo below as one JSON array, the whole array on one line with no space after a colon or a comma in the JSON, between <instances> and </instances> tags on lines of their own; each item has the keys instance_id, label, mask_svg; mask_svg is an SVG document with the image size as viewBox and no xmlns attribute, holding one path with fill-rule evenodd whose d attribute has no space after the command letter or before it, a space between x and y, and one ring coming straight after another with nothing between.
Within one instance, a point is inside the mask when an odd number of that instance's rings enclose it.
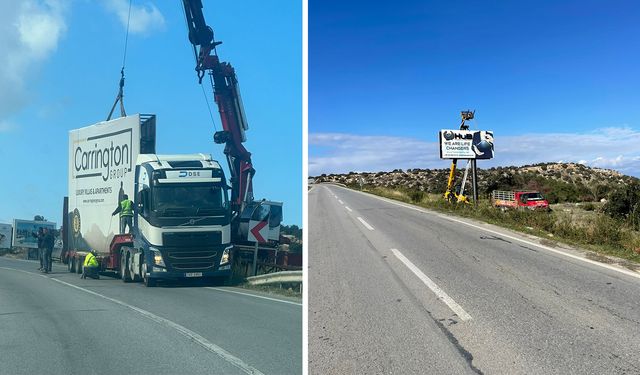
<instances>
[{"instance_id":1,"label":"long curved white line on the road before the truck","mask_svg":"<svg viewBox=\"0 0 640 375\"><path fill-rule=\"evenodd\" d=\"M153 320L156 323L165 325L165 326L167 326L169 328L173 328L174 330L178 331L178 333L180 333L183 336L186 336L187 338L191 339L193 342L195 342L196 344L199 344L200 346L202 346L206 350L208 350L208 351L210 351L210 352L212 352L214 354L217 354L222 359L224 359L225 361L229 362L230 364L232 364L233 366L237 367L238 369L240 369L242 372L244 372L246 374L264 375L261 371L259 371L255 367L252 367L251 365L248 365L247 363L242 361L240 358L234 356L233 354L231 354L228 351L222 349L218 345L210 342L209 340L207 340L206 338L204 338L204 337L200 336L199 334L193 332L192 330L190 330L190 329L188 329L188 328L186 328L184 326L181 326L178 323L174 323L174 322L172 322L172 321L170 321L168 319L165 319L165 318L163 318L161 316L155 315L155 314L153 314L153 313L151 313L149 311L143 310L143 309L141 309L139 307L135 307L135 306L129 305L128 303L122 302L122 301L117 300L115 298L103 296L102 294L96 293L96 292L91 291L89 289L85 289L85 288L79 287L77 285L70 284L70 283L62 281L62 280L54 279L52 277L47 277L45 275L38 275L38 274L33 273L33 272L27 272L27 271L18 270L18 269L15 269L15 268L8 268L8 267L0 267L0 268L19 271L19 272L24 272L24 273L28 273L28 274L36 275L36 276L42 276L42 277L44 277L46 279L55 281L55 282L60 283L60 284L64 284L64 285L70 286L72 288L81 290L83 292L92 294L92 295L94 295L96 297L100 297L100 298L106 299L107 301L111 301L111 302L113 302L115 304L118 304L120 306L126 307L128 309L131 309L131 310L141 314L145 318Z\"/></svg>"}]
</instances>

